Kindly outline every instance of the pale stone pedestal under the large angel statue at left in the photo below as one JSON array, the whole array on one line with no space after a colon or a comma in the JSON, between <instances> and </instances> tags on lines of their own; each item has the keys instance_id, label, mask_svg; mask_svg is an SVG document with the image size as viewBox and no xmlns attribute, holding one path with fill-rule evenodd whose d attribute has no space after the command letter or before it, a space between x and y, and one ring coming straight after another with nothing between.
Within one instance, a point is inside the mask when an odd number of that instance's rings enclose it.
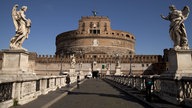
<instances>
[{"instance_id":1,"label":"pale stone pedestal under the large angel statue at left","mask_svg":"<svg viewBox=\"0 0 192 108\"><path fill-rule=\"evenodd\" d=\"M34 79L36 75L29 71L29 53L24 50L2 50L2 69L0 80Z\"/></svg>"}]
</instances>

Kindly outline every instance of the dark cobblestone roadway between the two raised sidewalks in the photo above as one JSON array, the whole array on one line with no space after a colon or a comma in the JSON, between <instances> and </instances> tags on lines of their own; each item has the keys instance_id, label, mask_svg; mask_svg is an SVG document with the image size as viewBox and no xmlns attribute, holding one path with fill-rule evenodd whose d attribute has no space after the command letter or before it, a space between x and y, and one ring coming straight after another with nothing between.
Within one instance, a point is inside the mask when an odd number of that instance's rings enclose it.
<instances>
[{"instance_id":1,"label":"dark cobblestone roadway between the two raised sidewalks","mask_svg":"<svg viewBox=\"0 0 192 108\"><path fill-rule=\"evenodd\" d=\"M101 79L88 79L49 108L149 108Z\"/></svg>"}]
</instances>

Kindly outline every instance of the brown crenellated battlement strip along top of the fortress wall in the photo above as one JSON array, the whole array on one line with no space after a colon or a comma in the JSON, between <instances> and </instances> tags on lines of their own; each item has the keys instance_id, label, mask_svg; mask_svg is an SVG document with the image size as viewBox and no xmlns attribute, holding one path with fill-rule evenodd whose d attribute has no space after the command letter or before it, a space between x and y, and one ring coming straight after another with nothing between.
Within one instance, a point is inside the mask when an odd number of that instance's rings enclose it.
<instances>
[{"instance_id":1,"label":"brown crenellated battlement strip along top of the fortress wall","mask_svg":"<svg viewBox=\"0 0 192 108\"><path fill-rule=\"evenodd\" d=\"M92 63L97 61L98 63L115 63L115 55L106 55L106 54L84 54L83 56L75 55L77 63ZM161 55L122 55L119 56L121 63L158 63L162 62ZM40 63L70 63L70 55L64 55L63 57L59 55L37 55L35 61Z\"/></svg>"}]
</instances>

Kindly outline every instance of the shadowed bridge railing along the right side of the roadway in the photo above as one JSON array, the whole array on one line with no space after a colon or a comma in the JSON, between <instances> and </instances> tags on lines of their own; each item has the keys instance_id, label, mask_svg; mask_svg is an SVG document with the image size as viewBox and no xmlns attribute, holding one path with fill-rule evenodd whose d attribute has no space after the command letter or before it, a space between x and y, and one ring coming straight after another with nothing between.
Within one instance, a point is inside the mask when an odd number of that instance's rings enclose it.
<instances>
[{"instance_id":1,"label":"shadowed bridge railing along the right side of the roadway","mask_svg":"<svg viewBox=\"0 0 192 108\"><path fill-rule=\"evenodd\" d=\"M151 82L151 93L163 100L174 104L192 107L192 78L180 79L165 78L159 75L129 75L129 76L106 76L106 79L116 83L146 91L147 82Z\"/></svg>"}]
</instances>

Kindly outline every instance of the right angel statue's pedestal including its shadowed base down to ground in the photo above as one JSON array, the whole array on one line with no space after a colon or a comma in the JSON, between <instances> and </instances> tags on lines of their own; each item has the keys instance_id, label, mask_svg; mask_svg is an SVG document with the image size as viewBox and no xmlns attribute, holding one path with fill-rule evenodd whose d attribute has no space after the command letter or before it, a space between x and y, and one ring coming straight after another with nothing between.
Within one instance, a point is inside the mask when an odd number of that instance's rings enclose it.
<instances>
[{"instance_id":1,"label":"right angel statue's pedestal including its shadowed base down to ground","mask_svg":"<svg viewBox=\"0 0 192 108\"><path fill-rule=\"evenodd\" d=\"M160 98L174 104L183 101L182 77L192 77L192 50L168 50L168 66L161 74Z\"/></svg>"}]
</instances>

